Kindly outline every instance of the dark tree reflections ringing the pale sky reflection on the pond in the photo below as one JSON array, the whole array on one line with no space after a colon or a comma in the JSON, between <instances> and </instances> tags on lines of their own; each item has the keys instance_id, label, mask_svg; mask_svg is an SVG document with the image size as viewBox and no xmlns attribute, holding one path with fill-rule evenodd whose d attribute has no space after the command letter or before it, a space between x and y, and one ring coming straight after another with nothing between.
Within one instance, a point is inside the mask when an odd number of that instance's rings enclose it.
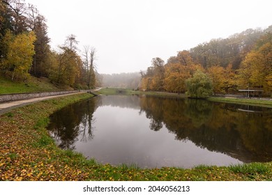
<instances>
[{"instance_id":1,"label":"dark tree reflections ringing the pale sky reflection on the pond","mask_svg":"<svg viewBox=\"0 0 272 195\"><path fill-rule=\"evenodd\" d=\"M51 116L48 130L61 148L75 149L77 141L87 142L95 137L94 113L105 106L139 110L140 116L145 114L149 119L149 130L160 132L166 127L176 140L190 140L200 148L227 154L241 162L272 161L272 111L261 107L250 107L255 111L250 112L245 106L206 100L104 96L57 111ZM122 123L129 125L126 121Z\"/></svg>"}]
</instances>

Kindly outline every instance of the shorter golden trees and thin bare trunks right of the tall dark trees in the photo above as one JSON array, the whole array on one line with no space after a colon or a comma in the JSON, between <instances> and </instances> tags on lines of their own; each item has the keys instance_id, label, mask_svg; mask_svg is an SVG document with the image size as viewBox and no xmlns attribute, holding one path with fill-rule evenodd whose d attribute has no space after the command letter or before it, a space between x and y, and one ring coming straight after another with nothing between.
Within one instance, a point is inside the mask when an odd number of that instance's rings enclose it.
<instances>
[{"instance_id":1,"label":"shorter golden trees and thin bare trunks right of the tall dark trees","mask_svg":"<svg viewBox=\"0 0 272 195\"><path fill-rule=\"evenodd\" d=\"M84 47L83 58L78 54L75 35L67 36L59 52L54 52L50 79L59 85L73 88L94 88L96 86L96 49Z\"/></svg>"}]
</instances>

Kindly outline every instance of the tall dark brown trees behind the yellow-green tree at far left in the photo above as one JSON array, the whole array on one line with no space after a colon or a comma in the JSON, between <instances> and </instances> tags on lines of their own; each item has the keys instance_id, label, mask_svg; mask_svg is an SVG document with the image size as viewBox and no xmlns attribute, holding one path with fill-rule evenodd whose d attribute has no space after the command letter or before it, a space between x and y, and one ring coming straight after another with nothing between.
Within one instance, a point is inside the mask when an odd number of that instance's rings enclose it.
<instances>
[{"instance_id":1,"label":"tall dark brown trees behind the yellow-green tree at far left","mask_svg":"<svg viewBox=\"0 0 272 195\"><path fill-rule=\"evenodd\" d=\"M15 36L22 33L33 31L36 35L34 42L35 54L33 56L33 63L30 68L31 75L47 76L49 67L46 63L47 54L50 52L49 41L47 36L47 26L45 24L45 17L40 15L37 8L31 4L27 6L22 0L6 0L1 1L1 25L0 33L4 37L6 31L10 31ZM3 24L3 25L2 25ZM5 44L1 44L0 36L0 56L1 59L7 56Z\"/></svg>"}]
</instances>

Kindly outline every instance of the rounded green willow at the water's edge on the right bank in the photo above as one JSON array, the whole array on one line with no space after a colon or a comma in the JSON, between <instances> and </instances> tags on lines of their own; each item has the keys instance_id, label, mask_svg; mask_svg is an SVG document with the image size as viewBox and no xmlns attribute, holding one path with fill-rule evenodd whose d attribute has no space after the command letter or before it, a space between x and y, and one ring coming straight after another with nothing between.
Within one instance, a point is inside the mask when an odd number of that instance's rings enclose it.
<instances>
[{"instance_id":1,"label":"rounded green willow at the water's edge on the right bank","mask_svg":"<svg viewBox=\"0 0 272 195\"><path fill-rule=\"evenodd\" d=\"M186 88L190 98L206 98L213 94L211 79L200 70L197 70L192 78L186 80Z\"/></svg>"}]
</instances>

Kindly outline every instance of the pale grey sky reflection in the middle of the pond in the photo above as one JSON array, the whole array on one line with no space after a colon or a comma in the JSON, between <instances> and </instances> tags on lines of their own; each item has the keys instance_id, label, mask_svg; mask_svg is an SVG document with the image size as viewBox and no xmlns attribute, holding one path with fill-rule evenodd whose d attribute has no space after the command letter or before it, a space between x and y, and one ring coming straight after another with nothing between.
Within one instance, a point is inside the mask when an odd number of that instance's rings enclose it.
<instances>
[{"instance_id":1,"label":"pale grey sky reflection in the middle of the pond","mask_svg":"<svg viewBox=\"0 0 272 195\"><path fill-rule=\"evenodd\" d=\"M109 164L137 164L141 167L199 164L227 166L239 160L179 141L167 128L150 130L150 119L139 110L120 107L98 107L93 114L93 139L75 143L75 149L86 157ZM80 135L82 136L82 135Z\"/></svg>"}]
</instances>

